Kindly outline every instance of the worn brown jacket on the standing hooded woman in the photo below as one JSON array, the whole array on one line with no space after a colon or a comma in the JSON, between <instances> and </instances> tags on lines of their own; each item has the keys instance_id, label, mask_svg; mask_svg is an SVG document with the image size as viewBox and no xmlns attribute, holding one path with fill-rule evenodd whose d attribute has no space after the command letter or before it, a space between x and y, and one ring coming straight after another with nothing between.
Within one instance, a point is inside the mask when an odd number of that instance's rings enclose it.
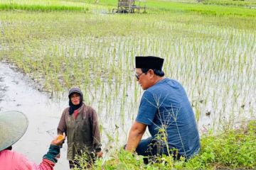
<instances>
[{"instance_id":1,"label":"worn brown jacket on the standing hooded woman","mask_svg":"<svg viewBox=\"0 0 256 170\"><path fill-rule=\"evenodd\" d=\"M68 138L68 160L74 160L75 155L82 152L100 152L100 129L97 121L97 113L90 106L82 103L78 108L78 117L68 113L65 108L57 128L58 134L65 134Z\"/></svg>"}]
</instances>

